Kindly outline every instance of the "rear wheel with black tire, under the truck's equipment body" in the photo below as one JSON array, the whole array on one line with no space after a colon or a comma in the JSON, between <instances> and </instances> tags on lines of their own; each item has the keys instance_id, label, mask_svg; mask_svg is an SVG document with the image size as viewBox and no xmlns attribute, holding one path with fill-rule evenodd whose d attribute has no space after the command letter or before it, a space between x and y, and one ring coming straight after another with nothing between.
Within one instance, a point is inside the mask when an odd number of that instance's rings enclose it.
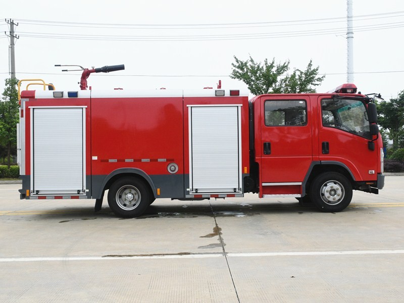
<instances>
[{"instance_id":1,"label":"rear wheel with black tire, under the truck's equipment body","mask_svg":"<svg viewBox=\"0 0 404 303\"><path fill-rule=\"evenodd\" d=\"M122 218L141 216L150 204L148 185L134 177L123 177L115 181L108 191L110 209Z\"/></svg>"}]
</instances>

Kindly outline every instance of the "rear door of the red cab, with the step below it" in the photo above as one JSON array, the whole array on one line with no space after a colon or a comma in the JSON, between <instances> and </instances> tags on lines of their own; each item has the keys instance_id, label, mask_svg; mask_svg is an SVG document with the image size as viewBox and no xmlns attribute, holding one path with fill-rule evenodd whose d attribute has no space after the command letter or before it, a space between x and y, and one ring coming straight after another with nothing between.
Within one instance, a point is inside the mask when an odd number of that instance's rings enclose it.
<instances>
[{"instance_id":1,"label":"rear door of the red cab, with the step below it","mask_svg":"<svg viewBox=\"0 0 404 303\"><path fill-rule=\"evenodd\" d=\"M260 109L260 192L299 195L313 157L310 98L262 96Z\"/></svg>"}]
</instances>

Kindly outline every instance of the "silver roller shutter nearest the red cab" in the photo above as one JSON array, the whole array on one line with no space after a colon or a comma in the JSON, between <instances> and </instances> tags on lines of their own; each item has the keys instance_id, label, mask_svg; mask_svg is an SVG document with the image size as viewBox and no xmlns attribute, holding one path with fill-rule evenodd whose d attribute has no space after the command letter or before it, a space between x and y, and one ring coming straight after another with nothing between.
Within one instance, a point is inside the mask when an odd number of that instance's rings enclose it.
<instances>
[{"instance_id":1,"label":"silver roller shutter nearest the red cab","mask_svg":"<svg viewBox=\"0 0 404 303\"><path fill-rule=\"evenodd\" d=\"M190 193L241 192L238 106L190 107Z\"/></svg>"}]
</instances>

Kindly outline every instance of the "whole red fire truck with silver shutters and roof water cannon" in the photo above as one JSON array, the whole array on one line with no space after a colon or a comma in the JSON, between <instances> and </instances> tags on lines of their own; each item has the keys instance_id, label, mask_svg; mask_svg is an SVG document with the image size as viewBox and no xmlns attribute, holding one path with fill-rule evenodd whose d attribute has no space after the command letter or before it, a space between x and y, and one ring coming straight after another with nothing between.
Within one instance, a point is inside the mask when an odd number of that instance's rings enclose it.
<instances>
[{"instance_id":1,"label":"whole red fire truck with silver shutters and roof water cannon","mask_svg":"<svg viewBox=\"0 0 404 303\"><path fill-rule=\"evenodd\" d=\"M87 89L91 73L122 69L80 67L78 90L19 84L21 199L95 199L98 211L108 191L111 210L130 218L156 198L251 192L339 212L352 190L377 194L384 186L376 106L354 84L250 100L248 91L221 85Z\"/></svg>"}]
</instances>

